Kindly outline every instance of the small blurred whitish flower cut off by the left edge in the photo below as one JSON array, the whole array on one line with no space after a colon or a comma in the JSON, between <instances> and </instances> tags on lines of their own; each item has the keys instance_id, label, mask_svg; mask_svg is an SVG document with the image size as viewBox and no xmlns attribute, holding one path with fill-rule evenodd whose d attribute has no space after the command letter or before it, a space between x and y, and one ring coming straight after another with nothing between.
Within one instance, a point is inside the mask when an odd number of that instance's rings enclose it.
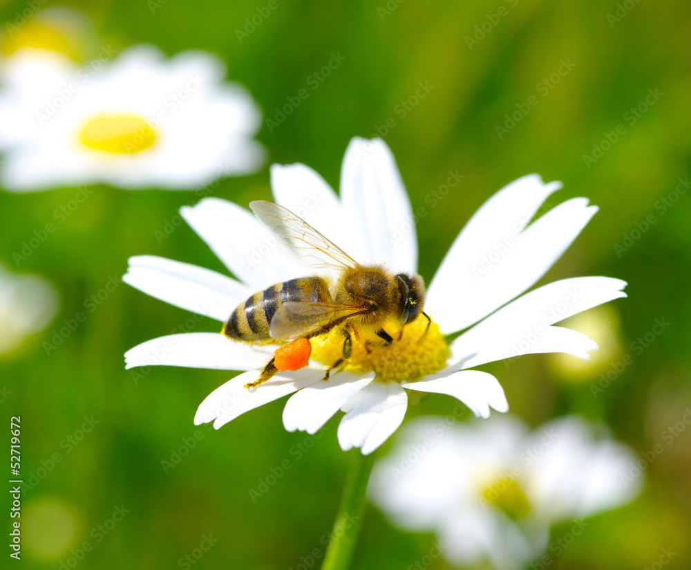
<instances>
[{"instance_id":1,"label":"small blurred whitish flower cut off by the left edge","mask_svg":"<svg viewBox=\"0 0 691 570\"><path fill-rule=\"evenodd\" d=\"M0 354L44 329L57 313L57 291L38 275L17 275L0 265Z\"/></svg>"}]
</instances>

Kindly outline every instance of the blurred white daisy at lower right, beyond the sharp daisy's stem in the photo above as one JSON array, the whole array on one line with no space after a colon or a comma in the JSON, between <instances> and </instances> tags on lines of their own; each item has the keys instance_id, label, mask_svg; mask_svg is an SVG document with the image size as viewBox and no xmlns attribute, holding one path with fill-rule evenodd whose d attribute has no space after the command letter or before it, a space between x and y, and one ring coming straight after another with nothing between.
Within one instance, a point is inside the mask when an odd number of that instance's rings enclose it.
<instances>
[{"instance_id":1,"label":"blurred white daisy at lower right, beyond the sharp daisy's stem","mask_svg":"<svg viewBox=\"0 0 691 570\"><path fill-rule=\"evenodd\" d=\"M533 432L511 415L464 424L427 416L375 463L368 495L397 526L435 533L452 564L520 570L545 552L549 565L587 533L585 517L634 499L642 481L623 482L634 459L578 416ZM572 536L548 549L550 526L565 521L578 521Z\"/></svg>"}]
</instances>

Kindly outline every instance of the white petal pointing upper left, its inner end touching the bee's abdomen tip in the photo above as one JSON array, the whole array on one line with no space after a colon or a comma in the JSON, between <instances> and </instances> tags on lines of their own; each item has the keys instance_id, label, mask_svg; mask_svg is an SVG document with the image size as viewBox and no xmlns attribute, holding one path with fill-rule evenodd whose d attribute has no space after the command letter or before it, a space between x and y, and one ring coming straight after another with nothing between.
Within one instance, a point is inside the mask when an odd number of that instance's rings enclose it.
<instances>
[{"instance_id":1,"label":"white petal pointing upper left, its inner end touching the bee's abdomen tip","mask_svg":"<svg viewBox=\"0 0 691 570\"><path fill-rule=\"evenodd\" d=\"M221 322L254 293L216 271L155 255L130 257L122 280L147 295Z\"/></svg>"}]
</instances>

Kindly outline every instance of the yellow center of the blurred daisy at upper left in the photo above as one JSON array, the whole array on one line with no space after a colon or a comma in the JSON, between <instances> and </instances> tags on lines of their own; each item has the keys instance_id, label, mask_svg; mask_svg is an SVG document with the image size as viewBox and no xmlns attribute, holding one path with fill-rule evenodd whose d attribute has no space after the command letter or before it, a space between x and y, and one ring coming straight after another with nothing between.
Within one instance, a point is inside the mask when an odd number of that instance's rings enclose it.
<instances>
[{"instance_id":1,"label":"yellow center of the blurred daisy at upper left","mask_svg":"<svg viewBox=\"0 0 691 570\"><path fill-rule=\"evenodd\" d=\"M138 116L100 116L91 119L80 133L82 143L90 149L133 154L153 147L156 135Z\"/></svg>"}]
</instances>

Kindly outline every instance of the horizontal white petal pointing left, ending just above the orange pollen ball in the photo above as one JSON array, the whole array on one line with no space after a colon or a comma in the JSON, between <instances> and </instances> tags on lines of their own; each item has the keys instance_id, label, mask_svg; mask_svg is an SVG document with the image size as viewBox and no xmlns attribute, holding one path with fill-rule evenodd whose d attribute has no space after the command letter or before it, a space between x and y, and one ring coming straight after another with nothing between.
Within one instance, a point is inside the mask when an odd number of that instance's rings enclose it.
<instances>
[{"instance_id":1,"label":"horizontal white petal pointing left, ending just above the orange pollen ball","mask_svg":"<svg viewBox=\"0 0 691 570\"><path fill-rule=\"evenodd\" d=\"M220 333L182 333L152 338L125 353L125 368L184 366L252 370L265 365L273 349L233 342Z\"/></svg>"}]
</instances>

